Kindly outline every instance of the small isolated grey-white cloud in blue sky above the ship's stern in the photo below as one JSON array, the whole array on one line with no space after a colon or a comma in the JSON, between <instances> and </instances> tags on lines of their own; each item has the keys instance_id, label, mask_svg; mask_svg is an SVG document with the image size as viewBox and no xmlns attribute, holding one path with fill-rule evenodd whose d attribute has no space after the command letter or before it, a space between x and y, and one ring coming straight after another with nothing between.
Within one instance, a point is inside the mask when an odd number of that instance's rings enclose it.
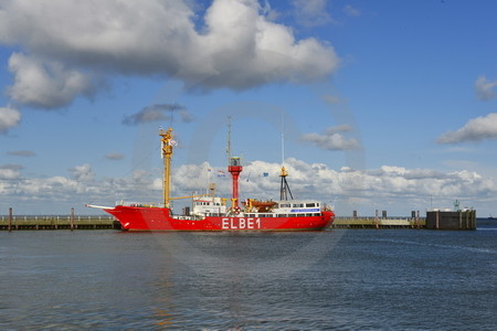
<instances>
[{"instance_id":1,"label":"small isolated grey-white cloud in blue sky above the ship's stern","mask_svg":"<svg viewBox=\"0 0 497 331\"><path fill-rule=\"evenodd\" d=\"M356 139L343 137L342 132L351 131L348 125L338 127L329 127L325 134L306 134L302 136L302 140L311 142L324 150L351 150L358 149L359 143Z\"/></svg>"}]
</instances>

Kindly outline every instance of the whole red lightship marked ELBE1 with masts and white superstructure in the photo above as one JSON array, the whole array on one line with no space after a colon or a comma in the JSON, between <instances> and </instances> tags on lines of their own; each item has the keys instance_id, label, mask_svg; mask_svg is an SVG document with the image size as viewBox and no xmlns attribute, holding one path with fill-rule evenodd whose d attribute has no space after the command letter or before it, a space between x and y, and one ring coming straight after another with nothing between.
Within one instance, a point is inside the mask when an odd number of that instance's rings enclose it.
<instances>
[{"instance_id":1,"label":"whole red lightship marked ELBE1 with masts and white superstructure","mask_svg":"<svg viewBox=\"0 0 497 331\"><path fill-rule=\"evenodd\" d=\"M240 158L229 157L228 171L232 175L232 197L215 196L211 193L192 197L192 207L184 209L182 215L173 214L170 202L179 197L169 196L172 129L160 130L165 160L163 205L125 204L114 207L87 205L102 209L114 215L125 231L321 231L335 220L335 213L325 204L314 200L293 199L287 172L282 167L281 196L277 201L239 199L239 177L243 170ZM288 199L289 196L289 199Z\"/></svg>"}]
</instances>

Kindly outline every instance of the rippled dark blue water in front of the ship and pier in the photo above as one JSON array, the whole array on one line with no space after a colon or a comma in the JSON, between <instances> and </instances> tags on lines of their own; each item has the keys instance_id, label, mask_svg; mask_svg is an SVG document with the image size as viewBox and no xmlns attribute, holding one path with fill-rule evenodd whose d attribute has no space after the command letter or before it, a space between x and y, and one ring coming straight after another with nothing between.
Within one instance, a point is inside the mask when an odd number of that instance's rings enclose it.
<instances>
[{"instance_id":1,"label":"rippled dark blue water in front of the ship and pier","mask_svg":"<svg viewBox=\"0 0 497 331\"><path fill-rule=\"evenodd\" d=\"M491 330L474 232L0 232L0 329Z\"/></svg>"}]
</instances>

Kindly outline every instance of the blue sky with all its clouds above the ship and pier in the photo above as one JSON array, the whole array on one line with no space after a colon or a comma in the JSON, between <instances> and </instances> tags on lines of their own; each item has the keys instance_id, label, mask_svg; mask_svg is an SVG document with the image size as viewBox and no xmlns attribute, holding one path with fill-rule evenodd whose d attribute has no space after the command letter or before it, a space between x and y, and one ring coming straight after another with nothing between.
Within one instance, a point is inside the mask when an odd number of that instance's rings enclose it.
<instances>
[{"instance_id":1,"label":"blue sky with all its clouds above the ship and pier","mask_svg":"<svg viewBox=\"0 0 497 331\"><path fill-rule=\"evenodd\" d=\"M497 215L497 2L3 0L0 214L241 197ZM267 173L267 175L265 175ZM175 209L188 204L175 202Z\"/></svg>"}]
</instances>

